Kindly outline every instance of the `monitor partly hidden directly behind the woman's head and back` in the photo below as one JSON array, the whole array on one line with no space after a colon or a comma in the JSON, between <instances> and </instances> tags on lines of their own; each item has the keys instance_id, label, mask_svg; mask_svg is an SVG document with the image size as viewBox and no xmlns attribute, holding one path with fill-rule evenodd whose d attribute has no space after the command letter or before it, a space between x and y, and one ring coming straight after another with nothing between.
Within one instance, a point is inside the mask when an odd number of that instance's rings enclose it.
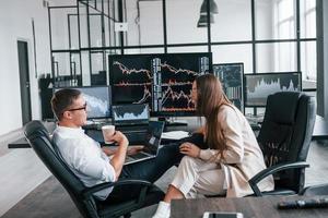
<instances>
[{"instance_id":1,"label":"monitor partly hidden directly behind the woman's head and back","mask_svg":"<svg viewBox=\"0 0 328 218\"><path fill-rule=\"evenodd\" d=\"M244 111L244 63L213 64L213 74L221 81L226 97Z\"/></svg>"}]
</instances>

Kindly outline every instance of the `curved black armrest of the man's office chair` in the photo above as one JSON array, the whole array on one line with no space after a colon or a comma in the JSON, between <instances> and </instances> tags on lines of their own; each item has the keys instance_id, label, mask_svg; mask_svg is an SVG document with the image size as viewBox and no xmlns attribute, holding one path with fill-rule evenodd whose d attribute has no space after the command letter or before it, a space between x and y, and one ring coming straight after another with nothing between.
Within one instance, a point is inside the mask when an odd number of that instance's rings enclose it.
<instances>
[{"instance_id":1,"label":"curved black armrest of the man's office chair","mask_svg":"<svg viewBox=\"0 0 328 218\"><path fill-rule=\"evenodd\" d=\"M94 194L98 191L102 191L102 190L105 190L105 189L108 189L108 187L112 187L112 186L131 185L131 184L140 184L140 185L143 185L143 186L153 185L152 183L150 183L148 181L144 181L144 180L118 180L116 182L104 182L104 183L94 185L92 187L87 187L83 192L83 195L85 197L89 197L90 195L92 195L92 194Z\"/></svg>"}]
</instances>

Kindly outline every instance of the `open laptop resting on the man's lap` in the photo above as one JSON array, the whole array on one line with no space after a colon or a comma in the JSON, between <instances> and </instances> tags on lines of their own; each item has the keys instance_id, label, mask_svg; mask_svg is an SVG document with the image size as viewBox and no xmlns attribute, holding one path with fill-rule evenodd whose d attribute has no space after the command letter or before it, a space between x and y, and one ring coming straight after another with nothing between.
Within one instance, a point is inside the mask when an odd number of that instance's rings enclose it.
<instances>
[{"instance_id":1,"label":"open laptop resting on the man's lap","mask_svg":"<svg viewBox=\"0 0 328 218\"><path fill-rule=\"evenodd\" d=\"M125 165L139 162L155 158L159 154L161 145L161 136L164 130L164 122L161 121L149 121L147 134L143 143L143 150L136 155L127 155Z\"/></svg>"}]
</instances>

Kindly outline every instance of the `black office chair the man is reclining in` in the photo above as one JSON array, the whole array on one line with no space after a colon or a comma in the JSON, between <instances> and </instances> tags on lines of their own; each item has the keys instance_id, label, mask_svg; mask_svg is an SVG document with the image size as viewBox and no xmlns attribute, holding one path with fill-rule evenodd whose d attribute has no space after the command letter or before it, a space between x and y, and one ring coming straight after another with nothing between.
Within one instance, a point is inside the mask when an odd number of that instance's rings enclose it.
<instances>
[{"instance_id":1,"label":"black office chair the man is reclining in","mask_svg":"<svg viewBox=\"0 0 328 218\"><path fill-rule=\"evenodd\" d=\"M159 187L141 180L121 180L86 187L57 155L49 133L40 121L27 123L25 136L37 156L68 191L83 217L130 217L131 211L156 204L164 197L164 193ZM132 184L142 185L139 197L134 199L105 204L93 196L95 192L110 186Z\"/></svg>"}]
</instances>

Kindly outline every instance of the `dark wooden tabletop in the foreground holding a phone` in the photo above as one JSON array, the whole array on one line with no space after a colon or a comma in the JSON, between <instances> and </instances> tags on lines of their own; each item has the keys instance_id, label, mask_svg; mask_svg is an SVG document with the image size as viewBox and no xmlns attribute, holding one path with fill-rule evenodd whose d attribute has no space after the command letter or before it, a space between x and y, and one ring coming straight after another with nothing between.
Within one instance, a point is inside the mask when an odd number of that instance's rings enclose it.
<instances>
[{"instance_id":1,"label":"dark wooden tabletop in the foreground holding a phone","mask_svg":"<svg viewBox=\"0 0 328 218\"><path fill-rule=\"evenodd\" d=\"M323 196L321 196L323 197ZM328 196L325 196L328 197ZM239 211L244 218L305 218L328 217L328 208L278 209L277 204L284 199L304 199L303 196L267 196L241 198L198 198L172 202L172 218L202 218L204 211ZM319 197L318 197L319 198Z\"/></svg>"}]
</instances>

